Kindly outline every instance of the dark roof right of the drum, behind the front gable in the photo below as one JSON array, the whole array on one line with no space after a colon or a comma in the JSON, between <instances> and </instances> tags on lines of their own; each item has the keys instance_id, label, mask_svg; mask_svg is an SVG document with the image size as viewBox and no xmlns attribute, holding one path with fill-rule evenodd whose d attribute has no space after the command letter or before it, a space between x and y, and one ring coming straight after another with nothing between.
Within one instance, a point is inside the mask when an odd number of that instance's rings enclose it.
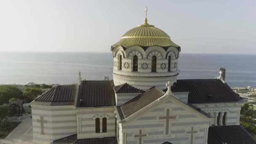
<instances>
[{"instance_id":1,"label":"dark roof right of the drum, behind the front gable","mask_svg":"<svg viewBox=\"0 0 256 144\"><path fill-rule=\"evenodd\" d=\"M164 90L166 91L166 89ZM217 79L177 80L172 92L189 92L188 103L236 102L241 99L227 83Z\"/></svg>"}]
</instances>

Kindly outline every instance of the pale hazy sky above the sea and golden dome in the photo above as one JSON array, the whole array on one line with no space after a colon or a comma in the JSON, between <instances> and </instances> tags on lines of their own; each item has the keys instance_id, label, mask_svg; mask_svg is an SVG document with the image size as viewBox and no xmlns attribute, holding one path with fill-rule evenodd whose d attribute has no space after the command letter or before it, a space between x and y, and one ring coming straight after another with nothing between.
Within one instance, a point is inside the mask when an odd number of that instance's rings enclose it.
<instances>
[{"instance_id":1,"label":"pale hazy sky above the sea and golden dome","mask_svg":"<svg viewBox=\"0 0 256 144\"><path fill-rule=\"evenodd\" d=\"M145 6L182 53L256 54L256 0L0 0L0 51L109 52Z\"/></svg>"}]
</instances>

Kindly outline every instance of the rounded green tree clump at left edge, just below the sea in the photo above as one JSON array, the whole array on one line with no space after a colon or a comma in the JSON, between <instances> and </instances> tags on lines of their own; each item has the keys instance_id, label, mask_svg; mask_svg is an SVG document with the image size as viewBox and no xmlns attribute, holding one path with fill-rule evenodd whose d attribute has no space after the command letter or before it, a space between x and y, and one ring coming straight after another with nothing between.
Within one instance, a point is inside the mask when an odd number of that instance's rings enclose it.
<instances>
[{"instance_id":1,"label":"rounded green tree clump at left edge, just below the sea","mask_svg":"<svg viewBox=\"0 0 256 144\"><path fill-rule=\"evenodd\" d=\"M22 91L15 86L0 85L0 105L8 104L9 99L11 98L22 99Z\"/></svg>"}]
</instances>

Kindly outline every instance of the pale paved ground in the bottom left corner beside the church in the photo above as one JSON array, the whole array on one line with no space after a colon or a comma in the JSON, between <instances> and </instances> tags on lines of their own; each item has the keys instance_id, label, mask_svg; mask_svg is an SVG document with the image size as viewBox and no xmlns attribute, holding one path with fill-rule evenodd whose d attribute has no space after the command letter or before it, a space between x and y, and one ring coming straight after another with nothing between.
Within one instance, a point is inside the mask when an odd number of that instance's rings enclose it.
<instances>
[{"instance_id":1,"label":"pale paved ground in the bottom left corner beside the church","mask_svg":"<svg viewBox=\"0 0 256 144\"><path fill-rule=\"evenodd\" d=\"M0 144L33 144L31 117L26 117Z\"/></svg>"}]
</instances>

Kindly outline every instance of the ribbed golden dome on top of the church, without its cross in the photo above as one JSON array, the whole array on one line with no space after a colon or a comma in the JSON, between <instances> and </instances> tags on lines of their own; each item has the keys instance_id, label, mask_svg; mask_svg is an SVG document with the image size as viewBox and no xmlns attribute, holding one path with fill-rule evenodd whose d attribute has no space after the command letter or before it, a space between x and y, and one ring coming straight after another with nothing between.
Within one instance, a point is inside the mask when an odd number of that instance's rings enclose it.
<instances>
[{"instance_id":1,"label":"ribbed golden dome on top of the church, without its cross","mask_svg":"<svg viewBox=\"0 0 256 144\"><path fill-rule=\"evenodd\" d=\"M162 47L175 46L179 47L171 41L169 35L167 35L161 29L156 28L153 25L141 24L138 27L130 29L126 32L117 43L113 46L122 45L125 47L131 45L140 46L152 46L158 45Z\"/></svg>"}]
</instances>

